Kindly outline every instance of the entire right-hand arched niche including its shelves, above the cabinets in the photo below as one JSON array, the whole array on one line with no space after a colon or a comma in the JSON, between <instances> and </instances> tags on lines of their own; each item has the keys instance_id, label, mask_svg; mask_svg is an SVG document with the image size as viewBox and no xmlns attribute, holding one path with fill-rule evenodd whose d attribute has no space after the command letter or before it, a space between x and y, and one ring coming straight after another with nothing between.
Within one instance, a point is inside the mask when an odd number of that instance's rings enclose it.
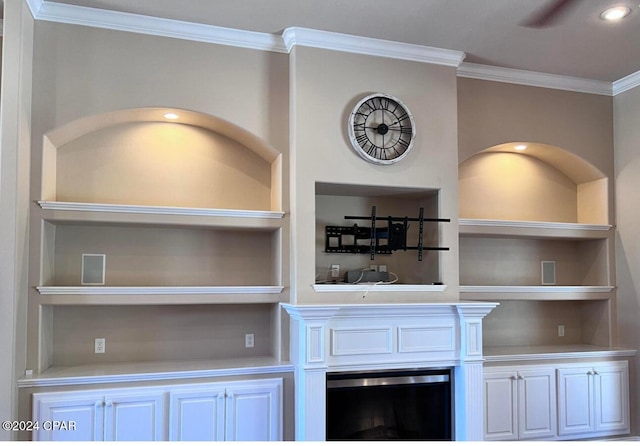
<instances>
[{"instance_id":1,"label":"entire right-hand arched niche including its shelves, above the cabinets","mask_svg":"<svg viewBox=\"0 0 640 446\"><path fill-rule=\"evenodd\" d=\"M461 299L500 303L483 324L488 357L615 345L608 198L599 169L550 145L459 165Z\"/></svg>"}]
</instances>

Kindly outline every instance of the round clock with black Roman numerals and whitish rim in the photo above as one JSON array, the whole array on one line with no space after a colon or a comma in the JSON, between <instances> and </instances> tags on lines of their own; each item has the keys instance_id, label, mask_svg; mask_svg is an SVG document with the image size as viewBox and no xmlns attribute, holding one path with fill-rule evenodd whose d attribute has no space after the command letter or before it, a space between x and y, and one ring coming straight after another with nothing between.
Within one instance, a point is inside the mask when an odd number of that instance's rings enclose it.
<instances>
[{"instance_id":1,"label":"round clock with black Roman numerals and whitish rim","mask_svg":"<svg viewBox=\"0 0 640 446\"><path fill-rule=\"evenodd\" d=\"M349 115L349 139L356 152L376 164L404 158L416 136L409 109L393 96L376 93L361 99Z\"/></svg>"}]
</instances>

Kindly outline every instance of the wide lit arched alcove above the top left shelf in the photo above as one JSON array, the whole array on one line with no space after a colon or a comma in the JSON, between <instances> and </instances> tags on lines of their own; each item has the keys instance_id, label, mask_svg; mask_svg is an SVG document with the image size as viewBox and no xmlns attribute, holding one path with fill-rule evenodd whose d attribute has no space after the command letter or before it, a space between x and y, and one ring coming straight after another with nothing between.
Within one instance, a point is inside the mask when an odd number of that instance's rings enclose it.
<instances>
[{"instance_id":1,"label":"wide lit arched alcove above the top left shelf","mask_svg":"<svg viewBox=\"0 0 640 446\"><path fill-rule=\"evenodd\" d=\"M43 150L46 201L281 209L281 154L198 112L138 108L81 118L48 132Z\"/></svg>"}]
</instances>

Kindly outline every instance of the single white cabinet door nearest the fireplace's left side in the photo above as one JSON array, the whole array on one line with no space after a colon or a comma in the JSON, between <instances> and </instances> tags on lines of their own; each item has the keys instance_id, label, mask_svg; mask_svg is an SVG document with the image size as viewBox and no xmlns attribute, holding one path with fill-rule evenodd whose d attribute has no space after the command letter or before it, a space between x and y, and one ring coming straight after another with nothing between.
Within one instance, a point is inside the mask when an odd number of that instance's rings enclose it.
<instances>
[{"instance_id":1,"label":"single white cabinet door nearest the fireplace's left side","mask_svg":"<svg viewBox=\"0 0 640 446\"><path fill-rule=\"evenodd\" d=\"M282 380L236 383L227 387L227 441L282 440Z\"/></svg>"}]
</instances>

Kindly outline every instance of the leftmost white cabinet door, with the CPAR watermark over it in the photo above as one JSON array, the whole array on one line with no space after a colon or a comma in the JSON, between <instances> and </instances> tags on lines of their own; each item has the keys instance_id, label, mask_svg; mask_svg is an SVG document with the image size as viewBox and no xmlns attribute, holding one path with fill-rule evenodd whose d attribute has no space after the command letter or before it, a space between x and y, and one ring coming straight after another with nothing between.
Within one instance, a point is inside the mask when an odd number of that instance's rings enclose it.
<instances>
[{"instance_id":1,"label":"leftmost white cabinet door, with the CPAR watermark over it","mask_svg":"<svg viewBox=\"0 0 640 446\"><path fill-rule=\"evenodd\" d=\"M40 429L33 432L33 440L42 441L100 441L103 438L102 394L79 392L35 393L33 421ZM50 429L53 423L59 426ZM66 423L66 424L65 424Z\"/></svg>"}]
</instances>

